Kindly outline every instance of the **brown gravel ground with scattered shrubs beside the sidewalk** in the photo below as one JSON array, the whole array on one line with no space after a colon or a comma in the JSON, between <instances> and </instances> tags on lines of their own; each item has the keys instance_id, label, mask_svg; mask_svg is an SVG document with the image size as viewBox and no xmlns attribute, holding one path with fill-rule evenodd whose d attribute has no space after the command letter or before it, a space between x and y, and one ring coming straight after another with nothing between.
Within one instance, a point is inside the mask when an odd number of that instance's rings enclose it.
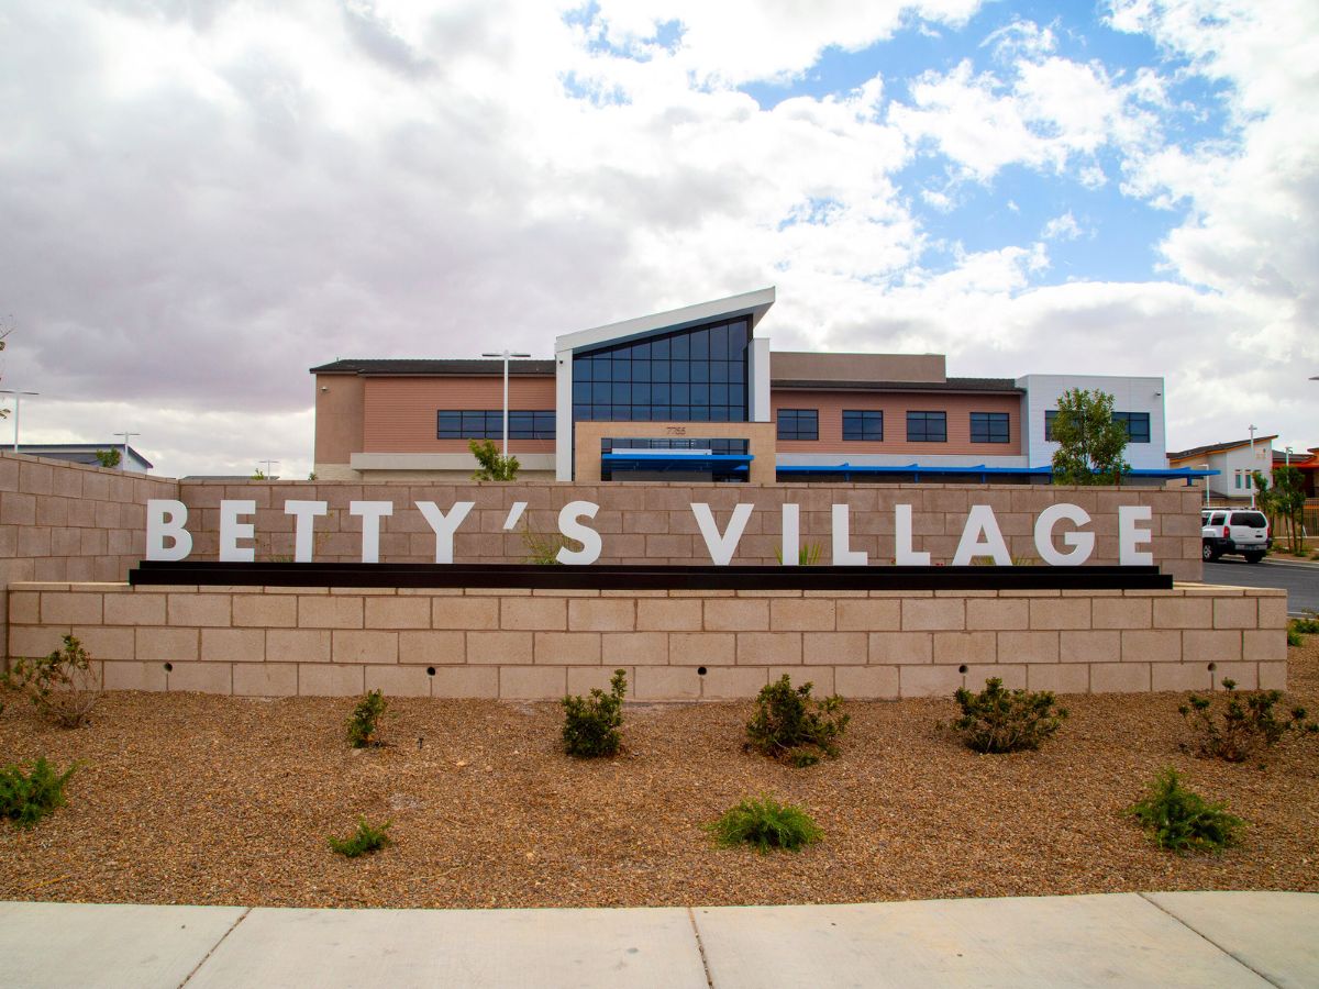
<instances>
[{"instance_id":1,"label":"brown gravel ground with scattered shrubs beside the sidewalk","mask_svg":"<svg viewBox=\"0 0 1319 989\"><path fill-rule=\"evenodd\" d=\"M1319 709L1319 637L1290 703ZM555 704L394 700L389 745L343 741L351 699L107 695L91 727L11 703L0 762L82 767L69 806L0 825L0 899L317 907L827 903L1120 890L1319 891L1319 738L1266 767L1182 750L1182 695L1071 696L1038 753L977 756L951 700L851 703L843 756L797 770L741 752L749 703L629 705L627 752L557 749ZM1221 856L1157 851L1122 815L1166 765L1250 822ZM805 803L824 841L716 849L702 825L748 794ZM326 847L359 814L397 844Z\"/></svg>"}]
</instances>

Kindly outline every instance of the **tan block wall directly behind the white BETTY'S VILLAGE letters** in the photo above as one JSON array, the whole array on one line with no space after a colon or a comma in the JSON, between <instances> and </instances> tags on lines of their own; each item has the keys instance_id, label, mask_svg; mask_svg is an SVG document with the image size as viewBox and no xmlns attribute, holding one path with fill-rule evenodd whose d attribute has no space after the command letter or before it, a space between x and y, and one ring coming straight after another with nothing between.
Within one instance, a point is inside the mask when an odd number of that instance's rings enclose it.
<instances>
[{"instance_id":1,"label":"tan block wall directly behind the white BETTY'S VILLAGE letters","mask_svg":"<svg viewBox=\"0 0 1319 989\"><path fill-rule=\"evenodd\" d=\"M505 531L504 522L514 501L528 502L525 520L542 534L558 531L558 512L570 501L600 505L594 527L601 534L601 563L691 564L708 563L704 541L691 504L704 501L720 526L739 501L756 505L733 563L774 564L781 546L781 510L785 502L801 506L802 545L818 543L827 563L831 553L834 504L851 506L851 545L865 550L872 563L893 560L893 506L913 505L913 527L919 549L934 562L948 563L971 505L991 505L1014 556L1038 559L1034 520L1049 505L1066 501L1080 505L1093 518L1097 535L1091 563L1117 563L1119 505L1153 508L1155 562L1177 580L1199 580L1200 514L1194 488L1070 488L1051 485L977 484L352 484L347 481L219 481L181 483L179 498L189 506L193 555L216 559L219 551L219 504L222 498L256 501L256 558L293 558L293 518L284 513L288 500L326 501L328 516L315 520L315 558L322 562L352 562L361 554L361 520L348 514L356 500L390 501L394 514L381 520L380 558L392 563L427 563L434 559L435 539L413 506L434 501L447 509L455 501L474 501L476 508L454 537L458 563L522 563L528 547L518 531ZM518 524L521 529L521 524Z\"/></svg>"}]
</instances>

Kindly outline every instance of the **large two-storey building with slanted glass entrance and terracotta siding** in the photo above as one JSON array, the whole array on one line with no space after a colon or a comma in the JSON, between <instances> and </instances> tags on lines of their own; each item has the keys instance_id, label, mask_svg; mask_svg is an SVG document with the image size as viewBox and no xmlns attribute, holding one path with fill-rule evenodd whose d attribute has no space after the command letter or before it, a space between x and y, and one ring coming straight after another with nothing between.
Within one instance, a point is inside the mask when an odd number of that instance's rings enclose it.
<instances>
[{"instance_id":1,"label":"large two-storey building with slanted glass entrance and terracotta siding","mask_svg":"<svg viewBox=\"0 0 1319 989\"><path fill-rule=\"evenodd\" d=\"M772 351L774 289L559 336L508 364L509 452L561 481L1049 483L1070 388L1115 396L1136 483L1165 459L1163 380L950 377L943 355ZM468 476L503 436L503 360L336 360L311 368L322 479Z\"/></svg>"}]
</instances>

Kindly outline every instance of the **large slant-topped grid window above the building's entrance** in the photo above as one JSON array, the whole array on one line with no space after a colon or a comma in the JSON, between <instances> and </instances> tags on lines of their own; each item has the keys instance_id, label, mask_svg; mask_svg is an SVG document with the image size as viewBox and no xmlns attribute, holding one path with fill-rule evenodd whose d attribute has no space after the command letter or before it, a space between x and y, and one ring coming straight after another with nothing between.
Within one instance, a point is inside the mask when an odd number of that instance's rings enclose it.
<instances>
[{"instance_id":1,"label":"large slant-topped grid window above the building's entrance","mask_svg":"<svg viewBox=\"0 0 1319 989\"><path fill-rule=\"evenodd\" d=\"M747 320L572 357L576 422L745 422Z\"/></svg>"}]
</instances>

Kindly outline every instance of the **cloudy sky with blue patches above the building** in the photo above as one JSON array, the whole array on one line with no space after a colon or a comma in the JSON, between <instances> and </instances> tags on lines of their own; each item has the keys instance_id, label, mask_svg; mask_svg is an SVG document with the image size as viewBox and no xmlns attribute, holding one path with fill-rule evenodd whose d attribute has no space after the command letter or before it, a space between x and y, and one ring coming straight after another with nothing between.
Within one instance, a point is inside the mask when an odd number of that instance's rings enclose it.
<instances>
[{"instance_id":1,"label":"cloudy sky with blue patches above the building","mask_svg":"<svg viewBox=\"0 0 1319 989\"><path fill-rule=\"evenodd\" d=\"M1319 446L1314 0L5 0L0 44L22 442L305 477L314 365L773 285L774 349Z\"/></svg>"}]
</instances>

